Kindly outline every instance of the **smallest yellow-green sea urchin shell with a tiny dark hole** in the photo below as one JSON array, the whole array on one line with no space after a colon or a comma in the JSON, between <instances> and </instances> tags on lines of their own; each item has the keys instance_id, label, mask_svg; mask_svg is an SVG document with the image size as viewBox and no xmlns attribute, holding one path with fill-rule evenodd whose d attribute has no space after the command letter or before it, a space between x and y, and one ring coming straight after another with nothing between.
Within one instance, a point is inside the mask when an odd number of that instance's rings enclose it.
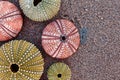
<instances>
[{"instance_id":1,"label":"smallest yellow-green sea urchin shell with a tiny dark hole","mask_svg":"<svg viewBox=\"0 0 120 80\"><path fill-rule=\"evenodd\" d=\"M48 80L70 80L71 70L65 63L54 63L48 69Z\"/></svg>"}]
</instances>

